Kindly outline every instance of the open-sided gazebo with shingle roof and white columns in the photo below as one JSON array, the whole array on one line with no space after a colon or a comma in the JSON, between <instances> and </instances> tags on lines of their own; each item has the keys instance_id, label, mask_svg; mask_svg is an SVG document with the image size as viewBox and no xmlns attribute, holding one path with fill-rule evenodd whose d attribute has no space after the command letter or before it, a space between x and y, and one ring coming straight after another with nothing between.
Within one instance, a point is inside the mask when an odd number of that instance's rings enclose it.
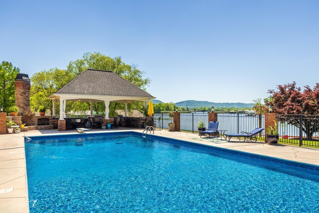
<instances>
[{"instance_id":1,"label":"open-sided gazebo with shingle roof and white columns","mask_svg":"<svg viewBox=\"0 0 319 213\"><path fill-rule=\"evenodd\" d=\"M144 106L155 97L132 84L113 71L86 69L72 79L69 83L48 97L52 99L52 115L55 115L55 104L60 101L60 118L64 120L66 101L82 101L91 104L91 117L93 116L93 103L105 103L105 119L109 119L110 102L127 104L135 101L144 102Z\"/></svg>"}]
</instances>

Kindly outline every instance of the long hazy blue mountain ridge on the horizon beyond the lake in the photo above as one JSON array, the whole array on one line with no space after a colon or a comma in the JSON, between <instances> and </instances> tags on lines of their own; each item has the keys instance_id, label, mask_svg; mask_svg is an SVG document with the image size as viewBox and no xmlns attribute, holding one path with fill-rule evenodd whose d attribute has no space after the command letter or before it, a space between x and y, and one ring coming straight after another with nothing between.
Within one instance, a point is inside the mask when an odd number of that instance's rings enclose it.
<instances>
[{"instance_id":1,"label":"long hazy blue mountain ridge on the horizon beyond the lake","mask_svg":"<svg viewBox=\"0 0 319 213\"><path fill-rule=\"evenodd\" d=\"M153 102L154 103L154 102ZM215 107L215 108L252 108L255 104L250 103L215 103L209 101L195 101L187 100L180 101L175 103L178 107L188 107L188 108L197 108L197 107Z\"/></svg>"}]
</instances>

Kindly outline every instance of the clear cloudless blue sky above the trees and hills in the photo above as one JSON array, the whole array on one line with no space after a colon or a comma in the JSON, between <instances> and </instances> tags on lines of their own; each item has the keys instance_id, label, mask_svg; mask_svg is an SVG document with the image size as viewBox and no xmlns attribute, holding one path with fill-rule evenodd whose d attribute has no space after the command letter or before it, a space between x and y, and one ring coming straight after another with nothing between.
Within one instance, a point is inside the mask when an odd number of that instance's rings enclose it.
<instances>
[{"instance_id":1,"label":"clear cloudless blue sky above the trees and hills","mask_svg":"<svg viewBox=\"0 0 319 213\"><path fill-rule=\"evenodd\" d=\"M319 82L319 0L1 0L0 60L31 76L121 56L164 102L245 102Z\"/></svg>"}]
</instances>

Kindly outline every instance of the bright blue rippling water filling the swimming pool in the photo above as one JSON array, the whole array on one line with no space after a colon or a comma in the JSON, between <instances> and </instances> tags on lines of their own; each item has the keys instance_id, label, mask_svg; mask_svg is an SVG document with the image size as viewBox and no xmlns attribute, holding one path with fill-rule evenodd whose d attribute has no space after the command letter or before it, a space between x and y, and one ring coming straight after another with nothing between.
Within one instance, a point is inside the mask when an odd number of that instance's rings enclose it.
<instances>
[{"instance_id":1,"label":"bright blue rippling water filling the swimming pool","mask_svg":"<svg viewBox=\"0 0 319 213\"><path fill-rule=\"evenodd\" d=\"M34 137L25 144L30 212L319 211L316 168L150 138Z\"/></svg>"}]
</instances>

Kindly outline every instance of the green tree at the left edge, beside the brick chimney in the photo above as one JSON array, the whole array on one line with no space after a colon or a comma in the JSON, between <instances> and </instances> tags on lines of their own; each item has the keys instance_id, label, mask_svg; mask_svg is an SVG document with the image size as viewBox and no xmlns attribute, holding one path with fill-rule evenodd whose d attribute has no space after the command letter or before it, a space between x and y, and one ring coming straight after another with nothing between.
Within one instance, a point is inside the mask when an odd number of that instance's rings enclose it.
<instances>
[{"instance_id":1,"label":"green tree at the left edge, beside the brick chimney","mask_svg":"<svg viewBox=\"0 0 319 213\"><path fill-rule=\"evenodd\" d=\"M14 79L19 72L20 69L10 62L2 61L0 63L0 106L5 112L15 104Z\"/></svg>"}]
</instances>

